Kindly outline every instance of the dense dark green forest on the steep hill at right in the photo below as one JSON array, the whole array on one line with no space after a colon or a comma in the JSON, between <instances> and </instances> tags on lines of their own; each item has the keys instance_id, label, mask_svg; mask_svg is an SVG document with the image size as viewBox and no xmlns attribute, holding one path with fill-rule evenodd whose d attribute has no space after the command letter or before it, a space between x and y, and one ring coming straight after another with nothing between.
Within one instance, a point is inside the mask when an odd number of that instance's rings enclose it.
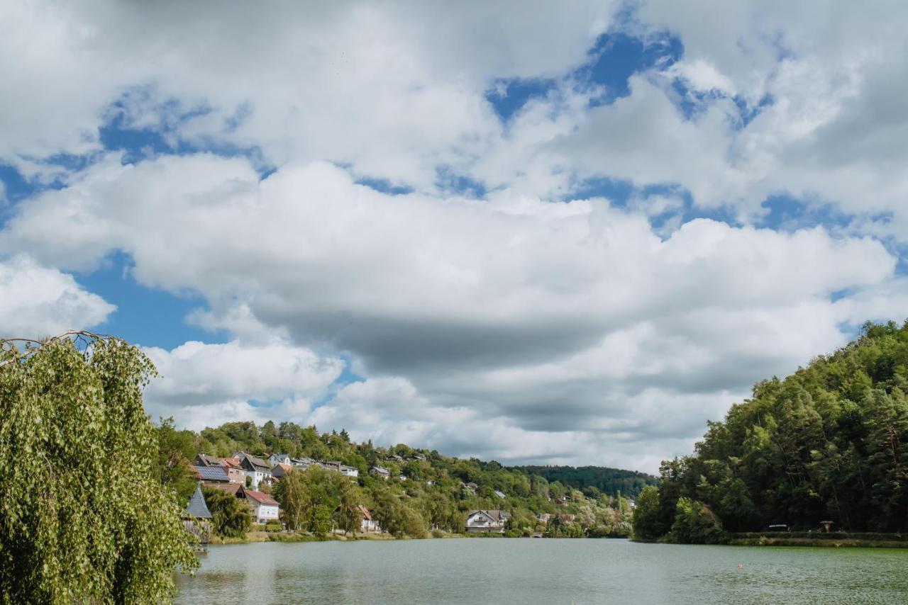
<instances>
[{"instance_id":1,"label":"dense dark green forest on the steep hill at right","mask_svg":"<svg viewBox=\"0 0 908 605\"><path fill-rule=\"evenodd\" d=\"M844 532L908 532L908 322L865 324L711 422L690 456L666 461L637 499L635 533L716 542L725 531L824 521Z\"/></svg>"}]
</instances>

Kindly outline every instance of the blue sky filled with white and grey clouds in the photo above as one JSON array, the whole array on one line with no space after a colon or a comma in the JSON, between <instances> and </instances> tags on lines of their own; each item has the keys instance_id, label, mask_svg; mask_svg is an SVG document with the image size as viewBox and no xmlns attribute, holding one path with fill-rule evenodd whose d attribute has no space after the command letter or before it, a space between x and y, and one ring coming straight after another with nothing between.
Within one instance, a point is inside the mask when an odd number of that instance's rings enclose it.
<instances>
[{"instance_id":1,"label":"blue sky filled with white and grey clouds","mask_svg":"<svg viewBox=\"0 0 908 605\"><path fill-rule=\"evenodd\" d=\"M908 5L0 5L0 336L154 419L655 472L908 317Z\"/></svg>"}]
</instances>

